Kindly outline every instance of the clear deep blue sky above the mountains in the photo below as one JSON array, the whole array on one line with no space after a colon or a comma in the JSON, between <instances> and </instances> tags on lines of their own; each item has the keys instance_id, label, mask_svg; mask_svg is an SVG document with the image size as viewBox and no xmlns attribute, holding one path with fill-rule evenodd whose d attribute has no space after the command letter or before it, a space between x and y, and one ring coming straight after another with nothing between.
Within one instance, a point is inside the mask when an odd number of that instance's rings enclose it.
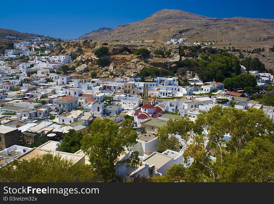
<instances>
[{"instance_id":1,"label":"clear deep blue sky above the mountains","mask_svg":"<svg viewBox=\"0 0 274 204\"><path fill-rule=\"evenodd\" d=\"M0 28L62 39L76 39L101 27L142 20L164 8L203 16L274 19L273 0L196 1L2 1Z\"/></svg>"}]
</instances>

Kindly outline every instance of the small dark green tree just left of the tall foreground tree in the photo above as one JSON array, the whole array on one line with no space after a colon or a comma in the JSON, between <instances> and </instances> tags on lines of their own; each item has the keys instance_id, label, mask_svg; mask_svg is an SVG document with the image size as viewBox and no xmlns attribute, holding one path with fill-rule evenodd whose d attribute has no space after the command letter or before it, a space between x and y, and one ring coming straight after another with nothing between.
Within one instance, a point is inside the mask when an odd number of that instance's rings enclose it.
<instances>
[{"instance_id":1,"label":"small dark green tree just left of the tall foreground tree","mask_svg":"<svg viewBox=\"0 0 274 204\"><path fill-rule=\"evenodd\" d=\"M63 134L63 142L60 144L62 152L74 153L81 149L81 140L83 138L82 132L75 132L70 130Z\"/></svg>"}]
</instances>

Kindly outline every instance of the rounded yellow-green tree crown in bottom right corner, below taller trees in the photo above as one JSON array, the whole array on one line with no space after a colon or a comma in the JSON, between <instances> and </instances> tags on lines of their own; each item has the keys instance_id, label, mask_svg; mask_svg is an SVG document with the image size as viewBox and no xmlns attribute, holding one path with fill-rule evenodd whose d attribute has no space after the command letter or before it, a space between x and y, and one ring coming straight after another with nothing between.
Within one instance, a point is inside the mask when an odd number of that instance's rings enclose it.
<instances>
[{"instance_id":1,"label":"rounded yellow-green tree crown in bottom right corner, below taller trees","mask_svg":"<svg viewBox=\"0 0 274 204\"><path fill-rule=\"evenodd\" d=\"M267 138L253 138L238 152L225 156L223 164L217 160L221 182L273 182L274 145Z\"/></svg>"}]
</instances>

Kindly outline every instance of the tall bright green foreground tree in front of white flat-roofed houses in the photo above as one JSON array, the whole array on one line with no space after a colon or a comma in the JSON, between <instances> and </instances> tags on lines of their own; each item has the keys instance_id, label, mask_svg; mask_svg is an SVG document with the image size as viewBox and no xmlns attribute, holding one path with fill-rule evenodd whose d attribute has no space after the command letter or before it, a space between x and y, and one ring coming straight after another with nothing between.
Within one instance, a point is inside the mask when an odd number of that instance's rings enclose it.
<instances>
[{"instance_id":1,"label":"tall bright green foreground tree in front of white flat-roofed houses","mask_svg":"<svg viewBox=\"0 0 274 204\"><path fill-rule=\"evenodd\" d=\"M123 161L119 156L125 154L126 148L136 144L137 133L131 126L131 120L124 120L121 127L113 120L104 118L94 120L89 126L88 134L82 139L81 149L88 155L92 168L103 182L115 177L116 167L120 165L139 165L138 152Z\"/></svg>"}]
</instances>

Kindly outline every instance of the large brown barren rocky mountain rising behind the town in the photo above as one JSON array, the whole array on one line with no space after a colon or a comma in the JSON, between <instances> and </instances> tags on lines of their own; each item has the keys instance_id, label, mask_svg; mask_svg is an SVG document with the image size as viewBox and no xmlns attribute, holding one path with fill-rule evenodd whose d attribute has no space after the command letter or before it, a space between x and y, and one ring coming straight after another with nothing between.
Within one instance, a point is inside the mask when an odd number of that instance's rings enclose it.
<instances>
[{"instance_id":1,"label":"large brown barren rocky mountain rising behind the town","mask_svg":"<svg viewBox=\"0 0 274 204\"><path fill-rule=\"evenodd\" d=\"M274 44L274 20L246 17L211 18L182 10L163 9L144 20L99 29L78 39L97 41L131 41L157 39L166 42L172 38L188 38L188 42L215 41L216 45L256 47ZM218 41L218 42L217 42Z\"/></svg>"}]
</instances>

